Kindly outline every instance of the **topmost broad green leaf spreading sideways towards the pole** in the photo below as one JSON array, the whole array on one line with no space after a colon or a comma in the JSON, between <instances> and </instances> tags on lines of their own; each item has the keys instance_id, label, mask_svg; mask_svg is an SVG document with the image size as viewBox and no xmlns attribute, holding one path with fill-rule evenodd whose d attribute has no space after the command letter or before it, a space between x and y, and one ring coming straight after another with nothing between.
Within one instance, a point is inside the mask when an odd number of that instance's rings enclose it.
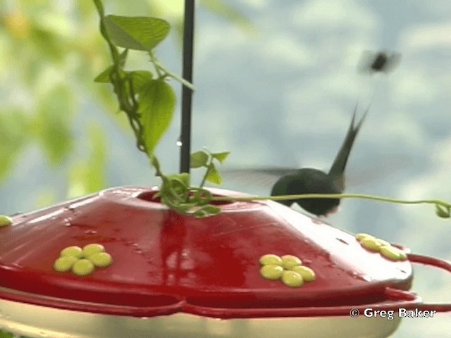
<instances>
[{"instance_id":1,"label":"topmost broad green leaf spreading sideways towards the pole","mask_svg":"<svg viewBox=\"0 0 451 338\"><path fill-rule=\"evenodd\" d=\"M105 26L113 42L127 49L151 51L168 35L170 25L158 18L107 15Z\"/></svg>"}]
</instances>

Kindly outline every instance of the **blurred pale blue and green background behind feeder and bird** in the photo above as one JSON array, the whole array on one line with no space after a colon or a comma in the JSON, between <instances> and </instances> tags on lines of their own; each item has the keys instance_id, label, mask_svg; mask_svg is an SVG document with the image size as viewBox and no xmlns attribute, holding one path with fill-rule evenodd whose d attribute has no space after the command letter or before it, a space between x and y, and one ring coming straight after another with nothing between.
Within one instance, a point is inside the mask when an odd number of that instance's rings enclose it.
<instances>
[{"instance_id":1,"label":"blurred pale blue and green background behind feeder and bird","mask_svg":"<svg viewBox=\"0 0 451 338\"><path fill-rule=\"evenodd\" d=\"M106 13L168 20L157 49L181 74L183 1L104 0ZM357 100L371 110L347 166L347 192L451 201L451 2L197 1L192 150L231 151L226 189L268 195L252 168L328 170ZM3 0L0 213L28 212L120 185L155 185L111 87L92 1ZM389 75L357 71L364 51L402 54ZM130 52L130 70L149 69ZM180 99L180 84L172 81ZM371 99L371 95L372 99ZM157 149L178 171L180 108ZM249 168L227 175L228 169ZM199 182L194 175L194 182ZM328 223L451 260L451 221L433 206L342 201ZM414 291L451 302L451 277L415 267ZM403 320L393 337L450 337L450 315Z\"/></svg>"}]
</instances>

